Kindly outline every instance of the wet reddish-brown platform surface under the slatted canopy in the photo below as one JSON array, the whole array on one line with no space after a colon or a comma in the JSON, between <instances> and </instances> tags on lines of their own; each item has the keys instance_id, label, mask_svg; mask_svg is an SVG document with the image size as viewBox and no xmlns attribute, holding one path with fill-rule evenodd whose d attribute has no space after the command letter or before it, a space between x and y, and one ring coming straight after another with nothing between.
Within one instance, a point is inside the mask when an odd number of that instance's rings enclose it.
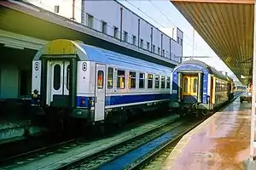
<instances>
[{"instance_id":1,"label":"wet reddish-brown platform surface under the slatted canopy","mask_svg":"<svg viewBox=\"0 0 256 170\"><path fill-rule=\"evenodd\" d=\"M249 156L251 105L234 100L183 136L162 169L240 170ZM255 153L255 150L254 150Z\"/></svg>"}]
</instances>

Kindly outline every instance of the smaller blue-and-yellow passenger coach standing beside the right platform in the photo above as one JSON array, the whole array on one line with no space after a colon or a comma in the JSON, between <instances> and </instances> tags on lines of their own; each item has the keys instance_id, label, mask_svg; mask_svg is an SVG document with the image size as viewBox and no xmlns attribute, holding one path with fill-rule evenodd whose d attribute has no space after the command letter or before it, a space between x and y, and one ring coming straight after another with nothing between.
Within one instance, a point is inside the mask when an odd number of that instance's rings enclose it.
<instances>
[{"instance_id":1,"label":"smaller blue-and-yellow passenger coach standing beside the right platform","mask_svg":"<svg viewBox=\"0 0 256 170\"><path fill-rule=\"evenodd\" d=\"M172 71L170 107L181 116L206 115L233 98L234 82L199 60L184 61Z\"/></svg>"}]
</instances>

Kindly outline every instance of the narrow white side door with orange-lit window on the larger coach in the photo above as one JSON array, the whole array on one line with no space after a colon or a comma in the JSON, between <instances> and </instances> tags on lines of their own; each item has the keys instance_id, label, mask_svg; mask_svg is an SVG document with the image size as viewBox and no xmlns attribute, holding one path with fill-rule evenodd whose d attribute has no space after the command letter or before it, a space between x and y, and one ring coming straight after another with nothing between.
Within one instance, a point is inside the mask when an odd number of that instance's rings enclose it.
<instances>
[{"instance_id":1,"label":"narrow white side door with orange-lit window on the larger coach","mask_svg":"<svg viewBox=\"0 0 256 170\"><path fill-rule=\"evenodd\" d=\"M106 95L106 65L96 64L95 121L104 120Z\"/></svg>"}]
</instances>

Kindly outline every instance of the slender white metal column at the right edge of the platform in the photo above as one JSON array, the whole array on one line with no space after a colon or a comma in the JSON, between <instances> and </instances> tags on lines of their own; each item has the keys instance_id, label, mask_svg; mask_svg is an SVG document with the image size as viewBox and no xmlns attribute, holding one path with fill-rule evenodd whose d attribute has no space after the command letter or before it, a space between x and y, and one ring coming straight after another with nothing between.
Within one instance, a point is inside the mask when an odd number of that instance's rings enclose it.
<instances>
[{"instance_id":1,"label":"slender white metal column at the right edge of the platform","mask_svg":"<svg viewBox=\"0 0 256 170\"><path fill-rule=\"evenodd\" d=\"M255 126L255 97L256 97L256 0L254 0L254 35L253 35L253 94L252 94L252 122L251 122L251 145L250 159L253 161L254 126Z\"/></svg>"}]
</instances>

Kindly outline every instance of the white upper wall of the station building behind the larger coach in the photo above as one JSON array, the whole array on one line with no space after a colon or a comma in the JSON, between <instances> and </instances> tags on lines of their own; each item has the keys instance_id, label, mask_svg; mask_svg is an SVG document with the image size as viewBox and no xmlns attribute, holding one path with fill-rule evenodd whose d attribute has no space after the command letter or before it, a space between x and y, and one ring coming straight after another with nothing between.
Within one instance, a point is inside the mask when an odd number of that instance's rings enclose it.
<instances>
[{"instance_id":1,"label":"white upper wall of the station building behind the larger coach","mask_svg":"<svg viewBox=\"0 0 256 170\"><path fill-rule=\"evenodd\" d=\"M73 12L73 0L28 0L41 8L45 8L51 12L55 12L55 5L60 6L60 13L62 16L72 18ZM122 8L122 9L121 9ZM82 13L82 11L84 13ZM122 12L121 12L122 11ZM182 56L182 41L183 32L178 28L175 28L176 37L172 37L172 33L166 33L166 31L160 31L158 28L149 24L146 20L143 20L140 16L133 13L130 9L125 8L121 3L115 0L75 0L75 20L89 26L88 16L93 16L93 29L96 31L102 31L102 21L107 23L107 34L110 37L114 37L113 27L118 28L118 36L120 38L121 23L122 23L122 41L125 41L124 31L128 33L127 42L133 43L133 36L136 37L134 45L144 50L151 51L151 46L155 46L154 54L158 54L158 48L160 48L160 56L166 59L179 61L179 59L172 59L172 54L176 56ZM121 17L122 15L122 17ZM122 22L121 22L122 19ZM140 20L140 21L138 21ZM140 24L139 24L140 23ZM151 40L151 29L153 28L153 35ZM172 32L172 31L170 31ZM162 35L162 40L161 40ZM173 38L173 39L172 39ZM143 47L140 47L140 40L143 39ZM170 52L170 39L172 39L171 45L173 46ZM178 40L177 40L178 39ZM175 41L176 40L176 41ZM152 43L151 43L152 41ZM149 48L147 47L149 42ZM179 43L179 44L177 44ZM165 50L165 56L162 56L163 49ZM170 55L171 54L171 55ZM171 57L170 57L171 56Z\"/></svg>"}]
</instances>

